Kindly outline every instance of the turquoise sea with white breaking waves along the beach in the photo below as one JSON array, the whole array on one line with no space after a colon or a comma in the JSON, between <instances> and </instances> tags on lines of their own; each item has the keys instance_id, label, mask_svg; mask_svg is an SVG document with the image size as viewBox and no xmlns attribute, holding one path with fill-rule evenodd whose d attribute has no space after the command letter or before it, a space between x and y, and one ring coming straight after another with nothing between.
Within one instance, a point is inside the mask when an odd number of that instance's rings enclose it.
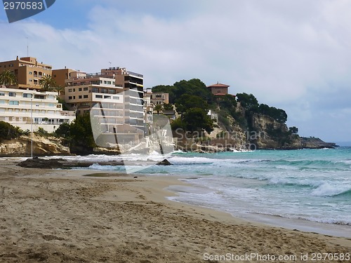
<instances>
[{"instance_id":1,"label":"turquoise sea with white breaking waves along the beach","mask_svg":"<svg viewBox=\"0 0 351 263\"><path fill-rule=\"evenodd\" d=\"M159 161L164 156L74 156L74 160ZM145 165L143 175L173 175L173 201L213 208L274 226L351 238L351 147L198 154L173 152L173 166ZM124 172L123 166L89 169Z\"/></svg>"}]
</instances>

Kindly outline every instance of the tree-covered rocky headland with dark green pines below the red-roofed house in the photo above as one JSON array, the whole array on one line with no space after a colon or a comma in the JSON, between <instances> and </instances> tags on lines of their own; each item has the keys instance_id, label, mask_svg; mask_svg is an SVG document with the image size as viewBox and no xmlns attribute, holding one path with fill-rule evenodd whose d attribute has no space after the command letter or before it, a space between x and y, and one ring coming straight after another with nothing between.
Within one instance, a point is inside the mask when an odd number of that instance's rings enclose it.
<instances>
[{"instance_id":1,"label":"tree-covered rocky headland with dark green pines below the red-roofed house","mask_svg":"<svg viewBox=\"0 0 351 263\"><path fill-rule=\"evenodd\" d=\"M211 110L217 114L216 121L221 129L217 137L230 133L232 137L241 137L237 140L241 144L257 144L264 148L298 147L295 145L300 140L298 128L286 127L286 112L260 104L253 94L215 97L199 79L178 81L173 86L154 86L152 91L169 93L170 102L176 104L180 117L171 124L173 130L181 129L200 137L204 131L210 133L216 128L216 123L207 114ZM245 138L243 134L246 134Z\"/></svg>"}]
</instances>

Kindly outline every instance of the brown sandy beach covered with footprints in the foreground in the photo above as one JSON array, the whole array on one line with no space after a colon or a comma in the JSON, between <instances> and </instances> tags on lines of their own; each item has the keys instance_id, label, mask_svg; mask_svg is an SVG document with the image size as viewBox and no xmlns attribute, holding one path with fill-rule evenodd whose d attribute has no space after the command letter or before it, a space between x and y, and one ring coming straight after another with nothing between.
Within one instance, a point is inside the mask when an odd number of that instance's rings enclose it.
<instances>
[{"instance_id":1,"label":"brown sandy beach covered with footprints in the foreground","mask_svg":"<svg viewBox=\"0 0 351 263\"><path fill-rule=\"evenodd\" d=\"M312 260L312 253L351 253L350 239L168 201L164 188L182 184L176 178L88 173L98 172L0 162L0 262L263 262L273 255L286 259L265 262L351 262L331 254ZM244 257L251 253L263 258Z\"/></svg>"}]
</instances>

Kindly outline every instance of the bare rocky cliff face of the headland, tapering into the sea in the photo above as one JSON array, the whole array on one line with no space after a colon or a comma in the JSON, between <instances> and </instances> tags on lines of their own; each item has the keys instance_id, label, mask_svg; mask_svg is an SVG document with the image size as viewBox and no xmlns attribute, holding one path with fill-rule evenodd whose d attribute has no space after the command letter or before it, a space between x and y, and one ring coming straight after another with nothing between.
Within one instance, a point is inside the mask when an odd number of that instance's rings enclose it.
<instances>
[{"instance_id":1,"label":"bare rocky cliff face of the headland, tapering into the sea","mask_svg":"<svg viewBox=\"0 0 351 263\"><path fill-rule=\"evenodd\" d=\"M227 116L229 126L218 123L219 128L211 133L209 139L198 142L195 151L213 152L244 149L320 149L336 147L335 143L324 142L319 138L300 137L289 130L285 123L264 114L246 114L237 105L237 121ZM242 121L244 119L244 121ZM215 134L216 133L216 134ZM188 144L190 144L188 142ZM192 149L194 150L194 149Z\"/></svg>"}]
</instances>

